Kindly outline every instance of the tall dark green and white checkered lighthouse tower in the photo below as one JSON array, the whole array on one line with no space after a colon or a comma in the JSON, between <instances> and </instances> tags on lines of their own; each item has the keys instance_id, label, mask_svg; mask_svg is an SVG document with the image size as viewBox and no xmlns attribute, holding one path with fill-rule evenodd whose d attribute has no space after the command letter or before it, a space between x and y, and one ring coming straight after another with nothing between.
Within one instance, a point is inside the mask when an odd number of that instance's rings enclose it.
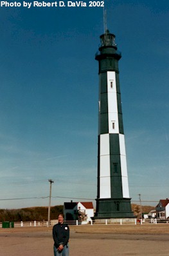
<instances>
[{"instance_id":1,"label":"tall dark green and white checkered lighthouse tower","mask_svg":"<svg viewBox=\"0 0 169 256\"><path fill-rule=\"evenodd\" d=\"M134 217L129 196L115 35L105 31L99 63L98 195L94 219Z\"/></svg>"}]
</instances>

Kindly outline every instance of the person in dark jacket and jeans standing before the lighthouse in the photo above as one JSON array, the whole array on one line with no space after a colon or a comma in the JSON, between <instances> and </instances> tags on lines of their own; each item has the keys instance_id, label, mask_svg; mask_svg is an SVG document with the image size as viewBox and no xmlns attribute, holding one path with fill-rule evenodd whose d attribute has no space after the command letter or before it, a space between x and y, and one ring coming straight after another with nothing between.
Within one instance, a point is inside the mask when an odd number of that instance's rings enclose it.
<instances>
[{"instance_id":1,"label":"person in dark jacket and jeans standing before the lighthouse","mask_svg":"<svg viewBox=\"0 0 169 256\"><path fill-rule=\"evenodd\" d=\"M69 226L64 224L64 215L58 215L58 224L53 226L54 255L69 256Z\"/></svg>"}]
</instances>

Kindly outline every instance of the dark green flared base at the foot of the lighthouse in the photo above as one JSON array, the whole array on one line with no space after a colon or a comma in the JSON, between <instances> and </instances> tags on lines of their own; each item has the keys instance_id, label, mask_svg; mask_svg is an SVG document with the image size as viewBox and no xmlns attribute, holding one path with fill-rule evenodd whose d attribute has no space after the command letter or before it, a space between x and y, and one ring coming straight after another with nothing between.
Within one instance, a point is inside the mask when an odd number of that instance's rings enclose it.
<instances>
[{"instance_id":1,"label":"dark green flared base at the foot of the lighthouse","mask_svg":"<svg viewBox=\"0 0 169 256\"><path fill-rule=\"evenodd\" d=\"M130 198L96 199L94 219L134 218Z\"/></svg>"}]
</instances>

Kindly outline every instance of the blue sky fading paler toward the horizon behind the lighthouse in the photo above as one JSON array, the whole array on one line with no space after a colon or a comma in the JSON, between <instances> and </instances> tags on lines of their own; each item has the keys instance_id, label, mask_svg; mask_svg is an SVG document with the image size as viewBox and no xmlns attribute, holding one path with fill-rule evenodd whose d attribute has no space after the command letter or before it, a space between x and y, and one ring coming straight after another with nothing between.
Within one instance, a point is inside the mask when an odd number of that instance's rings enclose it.
<instances>
[{"instance_id":1,"label":"blue sky fading paler toward the horizon behind the lighthouse","mask_svg":"<svg viewBox=\"0 0 169 256\"><path fill-rule=\"evenodd\" d=\"M122 52L130 197L156 205L169 196L168 0L105 9ZM0 21L0 208L48 206L48 179L52 205L94 200L102 8L0 7Z\"/></svg>"}]
</instances>

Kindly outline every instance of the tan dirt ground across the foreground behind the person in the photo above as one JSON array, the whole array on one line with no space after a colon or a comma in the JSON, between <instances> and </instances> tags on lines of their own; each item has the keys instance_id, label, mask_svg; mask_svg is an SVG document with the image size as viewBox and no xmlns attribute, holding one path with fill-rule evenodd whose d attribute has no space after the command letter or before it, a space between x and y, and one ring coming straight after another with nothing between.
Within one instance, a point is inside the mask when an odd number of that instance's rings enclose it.
<instances>
[{"instance_id":1,"label":"tan dirt ground across the foreground behind the person","mask_svg":"<svg viewBox=\"0 0 169 256\"><path fill-rule=\"evenodd\" d=\"M169 224L70 226L69 256L169 255ZM1 256L53 256L52 228L1 228Z\"/></svg>"}]
</instances>

